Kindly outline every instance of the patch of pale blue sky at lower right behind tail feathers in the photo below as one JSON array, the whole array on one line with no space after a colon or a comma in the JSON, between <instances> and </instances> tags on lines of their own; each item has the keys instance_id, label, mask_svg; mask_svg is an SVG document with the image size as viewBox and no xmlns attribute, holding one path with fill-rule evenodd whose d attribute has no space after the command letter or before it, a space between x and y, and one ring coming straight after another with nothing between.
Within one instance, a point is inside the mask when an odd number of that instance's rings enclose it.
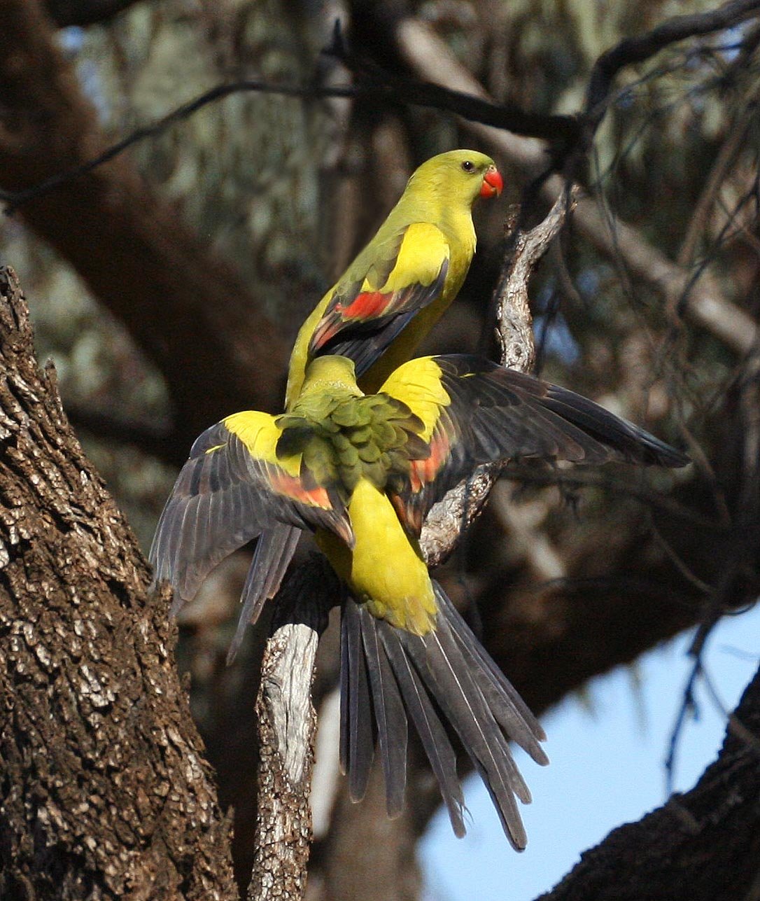
<instances>
[{"instance_id":1,"label":"patch of pale blue sky at lower right behind tail feathers","mask_svg":"<svg viewBox=\"0 0 760 901\"><path fill-rule=\"evenodd\" d=\"M537 767L518 751L533 794L533 803L523 808L527 851L511 850L482 783L467 780L466 837L457 839L439 811L421 844L426 901L531 901L612 828L663 804L664 760L691 668L686 657L691 635L648 652L636 669L619 668L594 679L583 701L571 697L547 714L548 767ZM760 660L760 605L719 623L704 660L720 700L731 710ZM679 791L701 776L725 733L725 717L703 687L697 696L699 720L686 724L679 744L674 783Z\"/></svg>"}]
</instances>

